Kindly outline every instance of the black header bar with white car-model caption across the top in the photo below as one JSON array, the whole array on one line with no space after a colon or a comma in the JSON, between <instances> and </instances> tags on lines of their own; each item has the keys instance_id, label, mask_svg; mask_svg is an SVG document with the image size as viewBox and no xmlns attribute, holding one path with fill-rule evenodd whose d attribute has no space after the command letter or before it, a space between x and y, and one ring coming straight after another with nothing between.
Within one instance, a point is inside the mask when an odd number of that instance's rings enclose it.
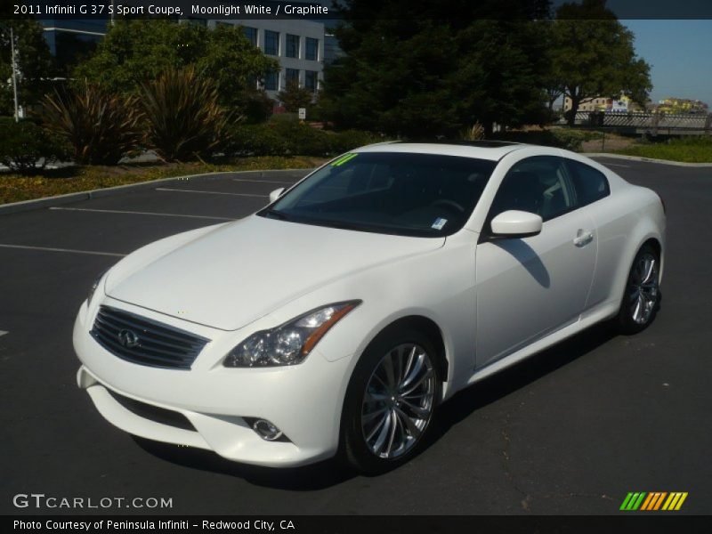
<instances>
[{"instance_id":1,"label":"black header bar with white car-model caption across the top","mask_svg":"<svg viewBox=\"0 0 712 534\"><path fill-rule=\"evenodd\" d=\"M552 0L550 12L565 0ZM576 3L580 3L577 0ZM344 3L344 0L342 0ZM422 0L357 0L353 16L363 20L423 18L462 20L530 18L546 5L544 0L433 0L422 9ZM384 6L388 9L384 10ZM401 6L399 8L399 6ZM465 7L464 7L465 6ZM619 20L712 19L710 0L608 0L606 7ZM338 1L316 0L3 0L0 19L111 20L111 19L196 19L196 20L338 20L342 13Z\"/></svg>"}]
</instances>

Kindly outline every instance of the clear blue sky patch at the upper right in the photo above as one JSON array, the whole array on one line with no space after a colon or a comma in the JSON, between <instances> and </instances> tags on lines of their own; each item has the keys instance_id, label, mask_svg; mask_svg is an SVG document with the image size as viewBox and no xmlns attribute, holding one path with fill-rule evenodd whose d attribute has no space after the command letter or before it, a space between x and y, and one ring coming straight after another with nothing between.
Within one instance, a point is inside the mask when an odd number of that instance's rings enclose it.
<instances>
[{"instance_id":1,"label":"clear blue sky patch at the upper right","mask_svg":"<svg viewBox=\"0 0 712 534\"><path fill-rule=\"evenodd\" d=\"M621 20L651 65L651 100L667 96L712 107L712 20Z\"/></svg>"}]
</instances>

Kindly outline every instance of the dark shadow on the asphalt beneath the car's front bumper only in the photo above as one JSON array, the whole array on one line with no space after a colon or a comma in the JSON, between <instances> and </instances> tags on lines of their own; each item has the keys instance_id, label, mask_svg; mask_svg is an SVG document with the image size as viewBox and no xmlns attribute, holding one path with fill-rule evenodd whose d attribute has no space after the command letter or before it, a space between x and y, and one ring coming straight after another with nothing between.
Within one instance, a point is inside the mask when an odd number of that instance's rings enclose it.
<instances>
[{"instance_id":1,"label":"dark shadow on the asphalt beneath the car's front bumper only","mask_svg":"<svg viewBox=\"0 0 712 534\"><path fill-rule=\"evenodd\" d=\"M178 447L169 443L145 440L137 436L132 437L139 447L167 462L200 471L239 477L255 484L255 486L278 490L323 490L347 481L355 475L346 465L336 459L328 459L303 467L261 467L232 462L209 450Z\"/></svg>"}]
</instances>

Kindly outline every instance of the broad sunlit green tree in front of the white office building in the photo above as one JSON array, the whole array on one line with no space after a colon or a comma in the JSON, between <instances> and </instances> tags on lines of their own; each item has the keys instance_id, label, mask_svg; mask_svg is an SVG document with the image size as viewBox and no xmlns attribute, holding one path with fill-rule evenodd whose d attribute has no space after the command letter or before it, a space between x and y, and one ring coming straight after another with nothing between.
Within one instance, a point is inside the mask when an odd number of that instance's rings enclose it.
<instances>
[{"instance_id":1,"label":"broad sunlit green tree in front of the white office building","mask_svg":"<svg viewBox=\"0 0 712 534\"><path fill-rule=\"evenodd\" d=\"M214 81L223 106L242 111L255 98L256 81L277 62L251 44L241 28L117 20L96 53L77 66L74 77L118 93L135 93L167 69L186 67Z\"/></svg>"}]
</instances>

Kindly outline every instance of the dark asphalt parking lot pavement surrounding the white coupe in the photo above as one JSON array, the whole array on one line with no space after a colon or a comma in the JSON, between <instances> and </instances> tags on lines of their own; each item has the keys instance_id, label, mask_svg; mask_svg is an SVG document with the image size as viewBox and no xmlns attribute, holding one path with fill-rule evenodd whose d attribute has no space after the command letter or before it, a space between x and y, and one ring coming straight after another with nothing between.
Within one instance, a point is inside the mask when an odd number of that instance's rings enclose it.
<instances>
[{"instance_id":1,"label":"dark asphalt parking lot pavement surrounding the white coupe","mask_svg":"<svg viewBox=\"0 0 712 534\"><path fill-rule=\"evenodd\" d=\"M628 491L687 491L680 513L710 514L712 167L599 160L667 205L657 320L630 337L592 328L459 393L430 447L374 478L332 461L271 470L137 440L75 383L72 325L99 272L155 239L250 214L303 173L0 215L0 512L93 512L12 506L44 493L172 498L153 511L167 514L618 514Z\"/></svg>"}]
</instances>

